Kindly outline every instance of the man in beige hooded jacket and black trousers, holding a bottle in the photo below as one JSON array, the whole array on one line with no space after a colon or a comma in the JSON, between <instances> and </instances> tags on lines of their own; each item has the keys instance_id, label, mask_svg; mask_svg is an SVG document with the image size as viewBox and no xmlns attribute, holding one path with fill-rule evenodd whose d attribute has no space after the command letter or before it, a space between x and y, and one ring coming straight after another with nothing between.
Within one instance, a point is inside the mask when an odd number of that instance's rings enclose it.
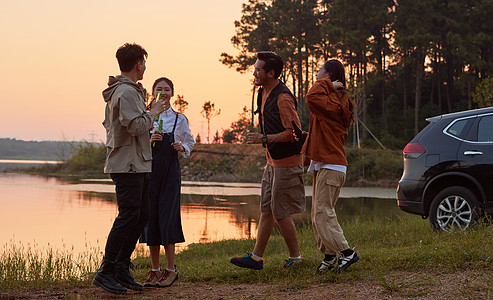
<instances>
[{"instance_id":1,"label":"man in beige hooded jacket and black trousers, holding a bottle","mask_svg":"<svg viewBox=\"0 0 493 300\"><path fill-rule=\"evenodd\" d=\"M147 223L148 186L152 165L149 130L164 102L145 107L145 89L137 81L146 70L147 52L137 44L124 44L116 52L121 75L110 76L103 91L106 102L106 164L116 185L118 216L106 242L103 263L93 283L114 294L128 289L142 291L129 272L130 256Z\"/></svg>"}]
</instances>

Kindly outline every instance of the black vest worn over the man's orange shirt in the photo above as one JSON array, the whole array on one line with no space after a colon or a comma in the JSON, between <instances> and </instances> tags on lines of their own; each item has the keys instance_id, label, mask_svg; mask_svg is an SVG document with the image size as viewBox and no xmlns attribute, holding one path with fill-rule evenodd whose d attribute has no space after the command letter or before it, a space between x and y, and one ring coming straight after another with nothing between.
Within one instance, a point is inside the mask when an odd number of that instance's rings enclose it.
<instances>
[{"instance_id":1,"label":"black vest worn over the man's orange shirt","mask_svg":"<svg viewBox=\"0 0 493 300\"><path fill-rule=\"evenodd\" d=\"M269 97L265 101L264 110L262 112L262 92L263 88L260 88L257 95L256 111L259 113L260 130L263 134L276 134L285 131L286 128L282 125L279 107L277 106L277 97L280 93L288 93L294 100L295 109L297 107L296 98L288 87L283 82L279 81L279 84L272 92L270 92ZM273 159L281 159L300 154L302 146L303 145L300 142L267 143L267 149Z\"/></svg>"}]
</instances>

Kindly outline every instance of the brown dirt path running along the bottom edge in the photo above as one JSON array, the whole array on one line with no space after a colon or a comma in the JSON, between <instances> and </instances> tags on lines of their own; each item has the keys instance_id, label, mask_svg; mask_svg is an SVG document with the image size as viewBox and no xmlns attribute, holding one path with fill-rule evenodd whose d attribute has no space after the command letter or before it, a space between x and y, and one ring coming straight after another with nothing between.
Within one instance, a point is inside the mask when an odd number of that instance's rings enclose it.
<instances>
[{"instance_id":1,"label":"brown dirt path running along the bottom edge","mask_svg":"<svg viewBox=\"0 0 493 300\"><path fill-rule=\"evenodd\" d=\"M493 271L447 274L393 272L379 282L293 285L207 284L177 281L169 288L148 288L115 296L97 287L0 292L0 299L491 299Z\"/></svg>"}]
</instances>

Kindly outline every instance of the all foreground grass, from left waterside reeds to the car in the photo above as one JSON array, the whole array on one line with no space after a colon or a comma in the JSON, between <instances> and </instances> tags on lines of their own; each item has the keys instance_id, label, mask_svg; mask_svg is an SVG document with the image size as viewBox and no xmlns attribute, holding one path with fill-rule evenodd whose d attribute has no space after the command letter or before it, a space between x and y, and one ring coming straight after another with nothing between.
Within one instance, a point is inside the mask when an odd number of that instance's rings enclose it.
<instances>
[{"instance_id":1,"label":"all foreground grass, from left waterside reeds to the car","mask_svg":"<svg viewBox=\"0 0 493 300\"><path fill-rule=\"evenodd\" d=\"M181 281L209 283L276 284L286 289L302 289L310 284L330 282L366 282L385 289L398 289L406 284L431 286L439 284L436 276L460 270L475 270L483 277L486 289L493 283L493 227L479 225L463 233L436 233L428 222L417 216L375 221L357 219L343 224L351 246L360 255L359 262L342 274L315 275L322 255L317 250L309 224L300 225L299 243L304 262L292 270L278 272L287 258L282 237L275 233L265 253L264 269L253 271L235 267L229 258L251 251L254 240L222 241L189 247L177 256ZM21 247L4 247L0 256L0 289L88 286L100 262L98 255L82 258L59 253L33 253ZM163 259L164 261L164 259ZM148 257L134 259L135 276L144 281L150 269ZM389 281L389 272L419 274ZM490 290L488 290L490 291ZM426 288L423 293L426 294Z\"/></svg>"}]
</instances>

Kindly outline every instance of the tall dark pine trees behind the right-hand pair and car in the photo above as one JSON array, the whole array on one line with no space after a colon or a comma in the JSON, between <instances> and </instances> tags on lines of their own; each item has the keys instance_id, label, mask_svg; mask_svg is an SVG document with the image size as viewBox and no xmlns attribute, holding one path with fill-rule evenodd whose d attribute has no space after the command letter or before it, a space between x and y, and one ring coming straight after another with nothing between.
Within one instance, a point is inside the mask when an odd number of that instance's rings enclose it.
<instances>
[{"instance_id":1,"label":"tall dark pine trees behind the right-hand pair and car","mask_svg":"<svg viewBox=\"0 0 493 300\"><path fill-rule=\"evenodd\" d=\"M427 117L493 105L491 11L492 0L248 0L231 38L238 53L220 61L247 72L258 51L281 55L281 80L298 98L306 130L304 97L315 74L340 59L368 128L363 143L374 143L371 129L387 147L402 148ZM249 119L253 99L238 121Z\"/></svg>"}]
</instances>

